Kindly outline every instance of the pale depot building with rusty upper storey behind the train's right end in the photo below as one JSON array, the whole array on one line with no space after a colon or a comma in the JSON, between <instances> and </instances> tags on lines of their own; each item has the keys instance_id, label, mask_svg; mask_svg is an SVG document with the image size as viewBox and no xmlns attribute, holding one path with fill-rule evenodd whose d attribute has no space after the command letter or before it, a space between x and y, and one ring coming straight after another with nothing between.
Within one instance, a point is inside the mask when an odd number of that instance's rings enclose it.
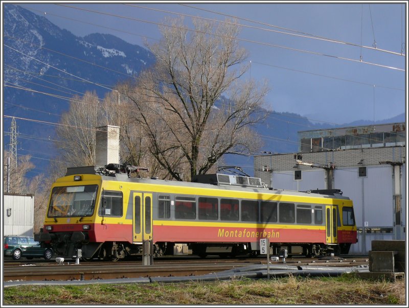
<instances>
[{"instance_id":1,"label":"pale depot building with rusty upper storey behind the train's right end","mask_svg":"<svg viewBox=\"0 0 409 308\"><path fill-rule=\"evenodd\" d=\"M406 238L404 123L300 131L298 139L297 153L254 156L254 176L277 189L340 189L354 203L350 254Z\"/></svg>"}]
</instances>

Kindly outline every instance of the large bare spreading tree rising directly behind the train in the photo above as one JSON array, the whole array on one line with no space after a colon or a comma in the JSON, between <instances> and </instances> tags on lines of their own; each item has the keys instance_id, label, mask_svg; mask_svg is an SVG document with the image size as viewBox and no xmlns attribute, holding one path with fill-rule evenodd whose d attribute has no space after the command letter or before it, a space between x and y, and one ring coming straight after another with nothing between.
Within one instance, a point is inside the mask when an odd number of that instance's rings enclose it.
<instances>
[{"instance_id":1,"label":"large bare spreading tree rising directly behind the train","mask_svg":"<svg viewBox=\"0 0 409 308\"><path fill-rule=\"evenodd\" d=\"M207 173L223 154L257 149L260 139L250 126L265 117L260 107L268 91L265 84L239 82L248 66L237 25L193 23L194 31L182 19L161 27L162 40L149 46L155 66L125 92L151 154L177 180L178 170L187 167L191 178Z\"/></svg>"}]
</instances>

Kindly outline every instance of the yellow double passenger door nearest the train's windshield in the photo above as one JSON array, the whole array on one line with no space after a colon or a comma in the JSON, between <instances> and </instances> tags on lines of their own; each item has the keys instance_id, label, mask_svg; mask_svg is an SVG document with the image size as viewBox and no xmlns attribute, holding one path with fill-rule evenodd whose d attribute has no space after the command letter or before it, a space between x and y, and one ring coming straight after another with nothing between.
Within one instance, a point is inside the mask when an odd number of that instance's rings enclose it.
<instances>
[{"instance_id":1,"label":"yellow double passenger door nearest the train's windshield","mask_svg":"<svg viewBox=\"0 0 409 308\"><path fill-rule=\"evenodd\" d=\"M152 194L133 193L133 243L152 239Z\"/></svg>"}]
</instances>

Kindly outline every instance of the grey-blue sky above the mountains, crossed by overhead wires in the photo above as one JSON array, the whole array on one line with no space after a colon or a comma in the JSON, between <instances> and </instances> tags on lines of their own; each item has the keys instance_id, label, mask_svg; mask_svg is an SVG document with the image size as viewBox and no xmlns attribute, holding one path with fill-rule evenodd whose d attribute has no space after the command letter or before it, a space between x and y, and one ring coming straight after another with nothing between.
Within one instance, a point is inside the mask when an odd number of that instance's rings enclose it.
<instances>
[{"instance_id":1,"label":"grey-blue sky above the mountains, crossed by overhead wires","mask_svg":"<svg viewBox=\"0 0 409 308\"><path fill-rule=\"evenodd\" d=\"M406 2L127 4L19 5L77 36L109 33L139 45L144 45L144 37L150 42L160 38L157 23L165 16L221 21L228 18L225 15L235 16L248 26L239 35L251 61L247 77L268 81L270 109L336 124L378 121L405 112L406 63L401 51L406 42ZM187 25L190 19L185 16ZM377 50L372 49L375 42ZM405 49L403 45L403 54Z\"/></svg>"}]
</instances>

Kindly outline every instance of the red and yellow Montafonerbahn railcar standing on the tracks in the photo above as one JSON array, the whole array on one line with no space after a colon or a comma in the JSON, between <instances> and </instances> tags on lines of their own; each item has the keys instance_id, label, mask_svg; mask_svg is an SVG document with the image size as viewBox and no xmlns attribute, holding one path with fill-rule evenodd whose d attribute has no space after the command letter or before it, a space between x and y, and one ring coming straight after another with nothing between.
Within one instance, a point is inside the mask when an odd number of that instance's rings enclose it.
<instances>
[{"instance_id":1,"label":"red and yellow Montafonerbahn railcar standing on the tracks","mask_svg":"<svg viewBox=\"0 0 409 308\"><path fill-rule=\"evenodd\" d=\"M348 253L357 242L353 203L337 190L283 191L253 177L176 182L69 168L52 185L37 240L58 256L81 249L84 259L118 260L141 254L146 240L155 256L255 255L262 238L271 254Z\"/></svg>"}]
</instances>

